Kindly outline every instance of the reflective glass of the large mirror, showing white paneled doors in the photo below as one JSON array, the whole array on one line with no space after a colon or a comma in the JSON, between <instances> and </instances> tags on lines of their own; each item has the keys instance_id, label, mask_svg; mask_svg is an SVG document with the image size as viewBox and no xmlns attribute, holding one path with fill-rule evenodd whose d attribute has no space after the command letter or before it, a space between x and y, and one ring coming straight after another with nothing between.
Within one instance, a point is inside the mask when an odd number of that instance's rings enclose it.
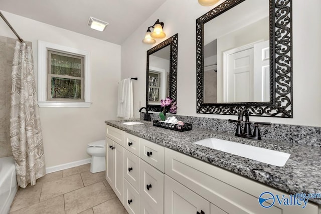
<instances>
[{"instance_id":1,"label":"reflective glass of the large mirror, showing white paneled doors","mask_svg":"<svg viewBox=\"0 0 321 214\"><path fill-rule=\"evenodd\" d=\"M204 24L204 103L270 101L269 2L247 0Z\"/></svg>"}]
</instances>

